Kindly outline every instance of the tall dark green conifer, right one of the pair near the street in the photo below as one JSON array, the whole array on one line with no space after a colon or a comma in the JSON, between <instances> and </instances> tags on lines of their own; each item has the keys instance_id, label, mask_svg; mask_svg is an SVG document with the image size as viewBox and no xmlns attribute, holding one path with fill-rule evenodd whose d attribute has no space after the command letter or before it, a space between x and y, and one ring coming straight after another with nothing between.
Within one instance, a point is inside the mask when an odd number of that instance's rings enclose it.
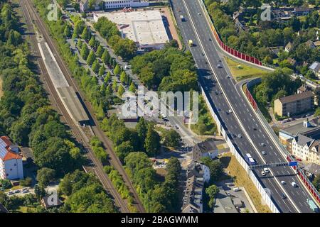
<instances>
[{"instance_id":1,"label":"tall dark green conifer, right one of the pair near the street","mask_svg":"<svg viewBox=\"0 0 320 227\"><path fill-rule=\"evenodd\" d=\"M149 126L144 140L144 148L149 157L153 157L160 151L160 135L154 130L154 126Z\"/></svg>"}]
</instances>

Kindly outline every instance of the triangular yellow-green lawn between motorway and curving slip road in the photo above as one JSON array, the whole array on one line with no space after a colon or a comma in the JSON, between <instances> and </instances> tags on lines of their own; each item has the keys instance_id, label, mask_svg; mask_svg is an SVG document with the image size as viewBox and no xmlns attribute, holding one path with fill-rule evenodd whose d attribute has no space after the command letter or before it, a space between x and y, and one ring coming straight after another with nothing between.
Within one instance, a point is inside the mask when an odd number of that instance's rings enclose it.
<instances>
[{"instance_id":1,"label":"triangular yellow-green lawn between motorway and curving slip road","mask_svg":"<svg viewBox=\"0 0 320 227\"><path fill-rule=\"evenodd\" d=\"M231 73L235 80L240 81L242 79L252 78L252 77L265 77L269 74L269 72L265 70L260 70L255 67L250 67L248 65L240 64L239 62L235 62L228 57L225 57L225 61L227 62ZM239 66L239 67L238 67Z\"/></svg>"}]
</instances>

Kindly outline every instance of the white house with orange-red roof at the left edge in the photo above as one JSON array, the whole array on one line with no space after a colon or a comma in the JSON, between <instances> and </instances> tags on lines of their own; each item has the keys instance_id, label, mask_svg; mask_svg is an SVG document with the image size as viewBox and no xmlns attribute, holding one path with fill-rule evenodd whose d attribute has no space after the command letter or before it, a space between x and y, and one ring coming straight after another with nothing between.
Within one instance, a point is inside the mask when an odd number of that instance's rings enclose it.
<instances>
[{"instance_id":1,"label":"white house with orange-red roof at the left edge","mask_svg":"<svg viewBox=\"0 0 320 227\"><path fill-rule=\"evenodd\" d=\"M0 178L23 179L22 156L7 136L0 137Z\"/></svg>"}]
</instances>

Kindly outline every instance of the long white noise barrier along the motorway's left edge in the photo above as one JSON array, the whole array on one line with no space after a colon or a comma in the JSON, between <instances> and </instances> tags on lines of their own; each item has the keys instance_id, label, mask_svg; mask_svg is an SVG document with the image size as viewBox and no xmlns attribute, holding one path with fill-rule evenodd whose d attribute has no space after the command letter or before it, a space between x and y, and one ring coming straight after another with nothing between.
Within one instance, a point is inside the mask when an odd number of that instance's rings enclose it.
<instances>
[{"instance_id":1,"label":"long white noise barrier along the motorway's left edge","mask_svg":"<svg viewBox=\"0 0 320 227\"><path fill-rule=\"evenodd\" d=\"M208 109L210 111L210 114L213 116L215 123L217 124L218 130L221 132L221 135L223 135L223 138L225 138L225 141L227 141L227 144L230 148L231 153L235 156L235 158L238 160L240 165L245 169L247 174L249 175L252 182L255 184L255 187L257 187L257 190L260 192L262 199L265 201L267 206L269 206L270 210L274 213L279 213L279 210L277 209L277 206L272 201L269 194L267 194L264 187L262 187L262 184L260 183L260 180L255 176L255 173L250 170L249 165L247 165L247 162L245 162L245 159L242 157L240 151L235 148L233 143L231 142L229 135L226 133L225 128L222 125L222 121L220 121L220 116L218 116L218 111L214 109L215 107L213 104L209 101L208 96L206 92L203 90L203 87L201 87L201 93L203 94L203 98L206 101L206 104L208 106Z\"/></svg>"}]
</instances>

